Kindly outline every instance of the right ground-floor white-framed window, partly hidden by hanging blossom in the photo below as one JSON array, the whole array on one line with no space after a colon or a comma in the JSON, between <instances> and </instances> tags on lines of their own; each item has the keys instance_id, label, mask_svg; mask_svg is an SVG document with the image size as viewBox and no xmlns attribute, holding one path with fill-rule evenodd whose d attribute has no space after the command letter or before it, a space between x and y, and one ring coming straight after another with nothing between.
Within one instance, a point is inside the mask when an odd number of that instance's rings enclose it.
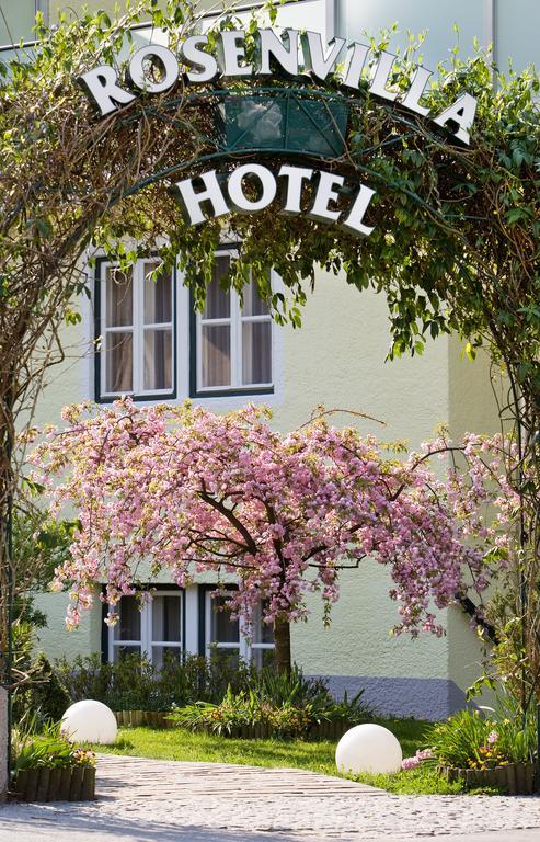
<instances>
[{"instance_id":1,"label":"right ground-floor white-framed window, partly hidden by hanging blossom","mask_svg":"<svg viewBox=\"0 0 540 842\"><path fill-rule=\"evenodd\" d=\"M242 658L253 661L261 669L273 660L274 634L267 623L263 623L262 605L258 604L252 616L252 639L242 635L242 623L232 619L223 604L227 598L212 596L211 591L206 593L206 651L218 656Z\"/></svg>"}]
</instances>

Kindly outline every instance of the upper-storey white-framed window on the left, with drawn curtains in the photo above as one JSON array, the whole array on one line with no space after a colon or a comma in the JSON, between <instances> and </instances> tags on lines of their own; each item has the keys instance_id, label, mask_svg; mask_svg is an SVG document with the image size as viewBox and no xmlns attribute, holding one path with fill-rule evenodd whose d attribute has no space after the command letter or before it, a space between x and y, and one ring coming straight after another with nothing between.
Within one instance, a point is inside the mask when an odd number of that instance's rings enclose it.
<instances>
[{"instance_id":1,"label":"upper-storey white-framed window on the left, with drawn curtains","mask_svg":"<svg viewBox=\"0 0 540 842\"><path fill-rule=\"evenodd\" d=\"M174 392L174 284L172 273L153 276L156 260L139 260L127 272L101 263L101 398Z\"/></svg>"}]
</instances>

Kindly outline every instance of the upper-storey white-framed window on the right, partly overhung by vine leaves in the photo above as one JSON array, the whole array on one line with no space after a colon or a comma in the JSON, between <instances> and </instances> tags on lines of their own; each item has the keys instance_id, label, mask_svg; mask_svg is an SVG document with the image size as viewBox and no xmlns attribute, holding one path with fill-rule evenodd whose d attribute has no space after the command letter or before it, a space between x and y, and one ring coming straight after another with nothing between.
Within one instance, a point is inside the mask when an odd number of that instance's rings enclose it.
<instances>
[{"instance_id":1,"label":"upper-storey white-framed window on the right, partly overhung by vine leaves","mask_svg":"<svg viewBox=\"0 0 540 842\"><path fill-rule=\"evenodd\" d=\"M196 395L272 391L274 386L274 327L268 305L253 277L243 301L234 289L220 286L235 257L232 249L216 252L205 309L195 317Z\"/></svg>"}]
</instances>

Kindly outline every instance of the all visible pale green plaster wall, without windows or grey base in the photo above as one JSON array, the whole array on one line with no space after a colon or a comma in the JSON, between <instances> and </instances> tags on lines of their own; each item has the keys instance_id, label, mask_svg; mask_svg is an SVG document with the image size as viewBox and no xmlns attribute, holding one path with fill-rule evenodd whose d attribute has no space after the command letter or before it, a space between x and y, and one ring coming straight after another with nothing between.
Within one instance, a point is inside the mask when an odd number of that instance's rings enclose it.
<instances>
[{"instance_id":1,"label":"all visible pale green plaster wall, without windows or grey base","mask_svg":"<svg viewBox=\"0 0 540 842\"><path fill-rule=\"evenodd\" d=\"M443 338L432 343L421 357L384 363L389 332L382 297L360 294L348 286L344 277L319 272L315 292L309 296L303 312L302 328L283 330L284 384L282 398L274 407L276 426L287 430L303 423L321 402L329 408L353 409L379 418L387 422L387 428L360 421L363 432L376 432L387 440L406 437L413 446L429 437L440 421L452 423L457 416L455 423L458 423L460 413L452 412L450 400L460 389L466 391L462 387L466 380L456 375L453 343ZM39 422L58 421L65 402L88 397L84 392L88 346L82 329L70 328L66 335L69 360L54 371L39 403ZM463 412L467 412L466 403L487 407L489 385L481 364L459 364L468 366L468 382L471 373L475 376L474 388L462 403ZM211 406L211 401L207 405ZM336 423L343 421L349 422L349 418L336 417ZM295 658L309 672L426 679L443 679L451 672L459 686L467 686L470 670L466 667L471 659L479 659L467 618L458 615L449 637L440 640L427 635L417 641L407 637L391 638L389 633L398 622L398 614L388 596L389 588L387 572L374 562L345 574L330 630L323 628L318 599L312 599L312 618L294 629ZM54 606L51 628L43 635L48 650L51 648L55 655L60 650L73 655L85 652L89 647L100 648L100 605L87 630L73 636L62 629L67 596L45 599L47 606ZM471 651L462 670L459 659L449 652L455 637L460 641L464 638ZM459 645L461 647L461 642Z\"/></svg>"}]
</instances>

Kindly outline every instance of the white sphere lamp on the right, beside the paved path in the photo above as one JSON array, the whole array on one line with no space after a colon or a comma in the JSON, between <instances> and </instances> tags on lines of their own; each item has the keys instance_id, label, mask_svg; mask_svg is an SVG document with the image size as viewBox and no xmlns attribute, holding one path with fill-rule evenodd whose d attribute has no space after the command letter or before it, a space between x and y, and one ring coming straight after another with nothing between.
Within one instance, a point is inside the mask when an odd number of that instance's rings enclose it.
<instances>
[{"instance_id":1,"label":"white sphere lamp on the right, beside the paved path","mask_svg":"<svg viewBox=\"0 0 540 842\"><path fill-rule=\"evenodd\" d=\"M381 725L356 725L343 735L335 750L337 771L353 775L399 772L402 760L400 743Z\"/></svg>"}]
</instances>

